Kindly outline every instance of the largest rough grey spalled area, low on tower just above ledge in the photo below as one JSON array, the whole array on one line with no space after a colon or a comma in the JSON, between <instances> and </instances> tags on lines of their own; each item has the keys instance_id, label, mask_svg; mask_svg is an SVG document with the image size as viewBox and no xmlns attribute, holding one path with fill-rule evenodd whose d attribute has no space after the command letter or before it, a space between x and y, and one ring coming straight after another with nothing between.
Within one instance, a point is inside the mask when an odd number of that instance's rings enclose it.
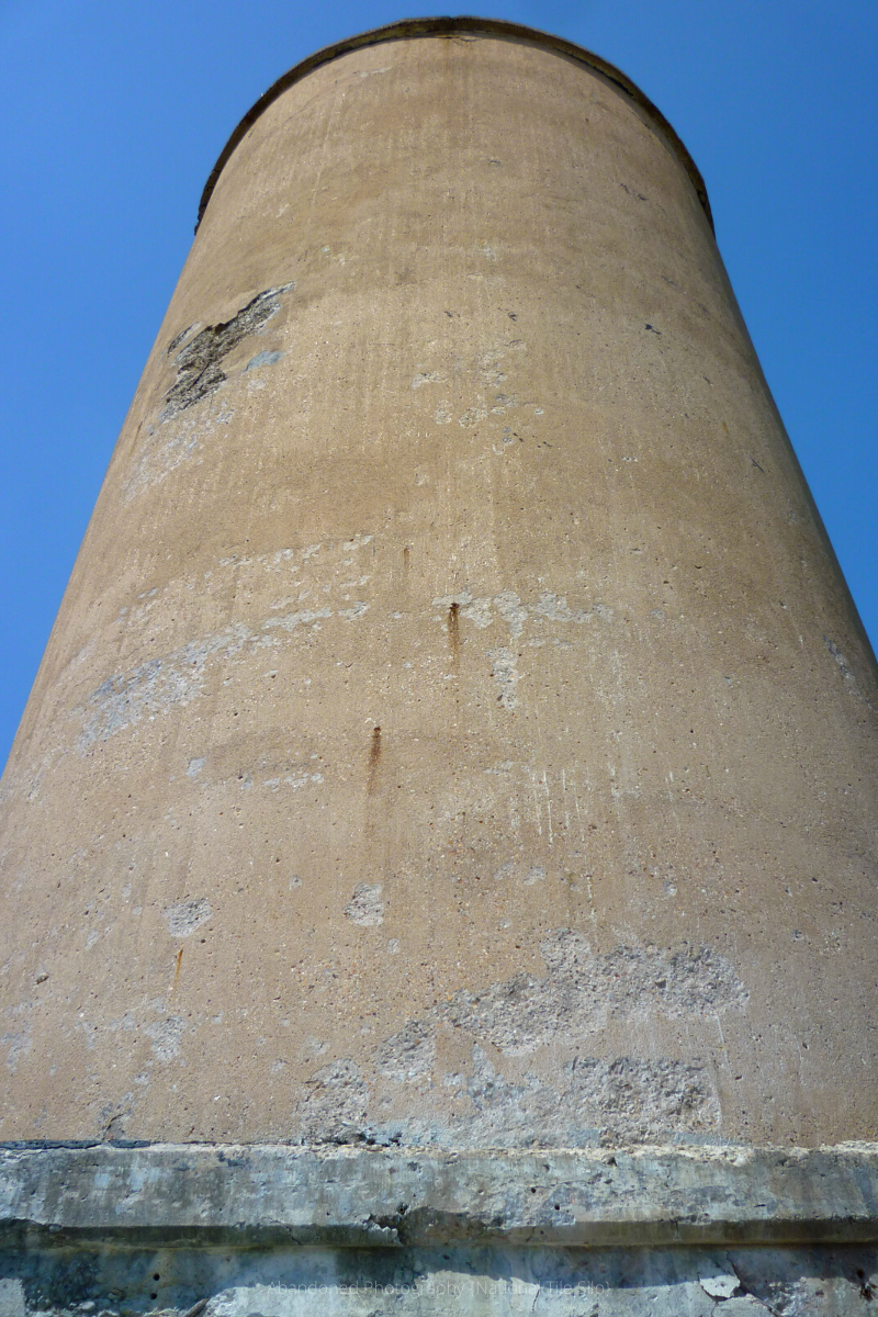
<instances>
[{"instance_id":1,"label":"largest rough grey spalled area, low on tower just above ledge","mask_svg":"<svg viewBox=\"0 0 878 1317\"><path fill-rule=\"evenodd\" d=\"M348 906L363 922L374 918L366 889ZM615 947L595 955L581 934L558 928L544 939L544 977L519 973L480 993L465 989L438 1002L386 1038L371 1058L375 1093L369 1122L357 1138L387 1144L403 1139L448 1147L517 1147L555 1143L657 1142L674 1135L715 1137L721 1127L712 1069L698 1058L595 1056L611 1022L719 1017L742 1010L748 992L728 960L710 947ZM446 1071L440 1038L465 1040L470 1062ZM524 1058L562 1046L546 1075L545 1058L533 1069L499 1068L498 1052ZM496 1050L496 1051L494 1051ZM491 1059L491 1052L495 1060ZM496 1064L495 1064L496 1062ZM404 1118L384 1119L379 1081L411 1087L416 1105ZM452 1114L437 1105L440 1089ZM387 1094L387 1085L383 1088ZM392 1089L391 1089L392 1092ZM448 1098L445 1100L448 1101ZM411 1106L411 1104L409 1104ZM308 1125L307 1138L333 1141Z\"/></svg>"}]
</instances>

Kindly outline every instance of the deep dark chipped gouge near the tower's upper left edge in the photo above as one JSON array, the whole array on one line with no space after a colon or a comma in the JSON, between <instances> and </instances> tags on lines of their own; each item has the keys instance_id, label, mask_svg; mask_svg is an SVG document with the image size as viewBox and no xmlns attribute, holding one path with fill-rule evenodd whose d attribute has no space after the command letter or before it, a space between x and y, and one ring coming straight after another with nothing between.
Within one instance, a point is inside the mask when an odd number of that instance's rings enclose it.
<instances>
[{"instance_id":1,"label":"deep dark chipped gouge near the tower's upper left edge","mask_svg":"<svg viewBox=\"0 0 878 1317\"><path fill-rule=\"evenodd\" d=\"M165 395L162 420L172 420L188 407L209 398L226 379L220 362L247 337L257 333L280 309L280 298L292 288L292 283L258 292L237 315L222 324L205 325L194 337L191 329L183 331L172 340L168 356L182 344L174 358L176 379ZM280 360L280 353L262 352L250 360L245 370L271 365Z\"/></svg>"}]
</instances>

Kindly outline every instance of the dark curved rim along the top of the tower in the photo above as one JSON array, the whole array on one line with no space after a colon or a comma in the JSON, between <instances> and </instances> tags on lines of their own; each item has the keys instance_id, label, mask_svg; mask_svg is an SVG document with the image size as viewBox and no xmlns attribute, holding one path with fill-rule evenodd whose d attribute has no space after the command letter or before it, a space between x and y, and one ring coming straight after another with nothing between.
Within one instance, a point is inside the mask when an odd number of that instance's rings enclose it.
<instances>
[{"instance_id":1,"label":"dark curved rim along the top of the tower","mask_svg":"<svg viewBox=\"0 0 878 1317\"><path fill-rule=\"evenodd\" d=\"M238 142L246 136L269 105L271 105L272 101L275 101L288 87L300 82L300 79L312 72L312 70L319 68L321 65L326 65L332 59L338 59L340 55L350 54L353 50L361 50L365 46L375 46L383 41L407 41L413 37L450 37L458 33L500 37L511 41L542 46L545 50L566 55L569 59L575 59L577 62L586 65L588 68L594 68L596 72L603 74L604 78L607 78L634 101L634 104L654 122L656 128L666 138L669 146L688 174L692 186L698 192L698 199L704 208L711 229L713 228L713 216L711 213L711 203L707 199L707 188L704 187L704 179L702 178L695 161L688 154L686 146L667 122L662 112L653 105L648 96L644 96L640 87L637 87L631 78L627 78L620 68L616 68L615 65L602 59L600 55L595 55L592 51L584 50L583 46L577 46L573 41L565 41L563 37L553 37L536 28L525 28L523 24L505 22L500 18L458 16L446 18L404 18L400 22L387 24L384 28L373 28L370 32L362 32L357 37L348 37L345 41L337 41L332 46L324 46L323 50L316 50L312 55L308 55L307 59L303 59L286 74L282 74L282 76L278 78L278 80L272 83L271 87L269 87L269 90L259 97L255 105L247 111L220 153L220 158L213 166L211 176L204 184L195 232L197 233L199 224L201 223L211 196L213 195L213 188L216 187L220 174L225 169L225 165Z\"/></svg>"}]
</instances>

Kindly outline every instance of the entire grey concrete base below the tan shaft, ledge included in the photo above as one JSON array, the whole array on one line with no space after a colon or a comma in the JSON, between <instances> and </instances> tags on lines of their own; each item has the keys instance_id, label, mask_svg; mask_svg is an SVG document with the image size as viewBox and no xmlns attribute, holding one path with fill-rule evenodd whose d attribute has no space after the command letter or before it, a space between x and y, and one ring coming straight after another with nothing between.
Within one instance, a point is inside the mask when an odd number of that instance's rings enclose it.
<instances>
[{"instance_id":1,"label":"entire grey concrete base below the tan shaft, ledge included","mask_svg":"<svg viewBox=\"0 0 878 1317\"><path fill-rule=\"evenodd\" d=\"M865 1314L877 1241L874 1144L0 1156L3 1317Z\"/></svg>"}]
</instances>

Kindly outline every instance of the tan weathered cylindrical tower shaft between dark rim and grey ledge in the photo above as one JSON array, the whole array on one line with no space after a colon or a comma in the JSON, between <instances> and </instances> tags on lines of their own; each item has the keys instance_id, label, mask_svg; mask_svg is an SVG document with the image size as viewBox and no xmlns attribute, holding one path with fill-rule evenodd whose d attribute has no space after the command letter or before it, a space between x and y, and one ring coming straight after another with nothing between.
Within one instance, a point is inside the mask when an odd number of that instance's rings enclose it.
<instances>
[{"instance_id":1,"label":"tan weathered cylindrical tower shaft between dark rim and grey ledge","mask_svg":"<svg viewBox=\"0 0 878 1317\"><path fill-rule=\"evenodd\" d=\"M4 777L0 1135L869 1138L877 707L658 120L536 38L325 62Z\"/></svg>"}]
</instances>

